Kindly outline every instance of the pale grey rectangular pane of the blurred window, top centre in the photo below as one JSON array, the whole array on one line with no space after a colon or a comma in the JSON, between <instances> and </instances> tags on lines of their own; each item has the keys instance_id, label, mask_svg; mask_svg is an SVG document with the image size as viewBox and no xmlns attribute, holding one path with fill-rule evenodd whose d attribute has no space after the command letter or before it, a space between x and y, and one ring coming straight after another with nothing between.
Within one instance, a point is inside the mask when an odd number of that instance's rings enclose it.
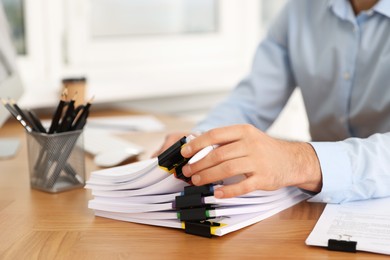
<instances>
[{"instance_id":1,"label":"pale grey rectangular pane of the blurred window, top centre","mask_svg":"<svg viewBox=\"0 0 390 260\"><path fill-rule=\"evenodd\" d=\"M217 0L93 0L91 37L214 33Z\"/></svg>"}]
</instances>

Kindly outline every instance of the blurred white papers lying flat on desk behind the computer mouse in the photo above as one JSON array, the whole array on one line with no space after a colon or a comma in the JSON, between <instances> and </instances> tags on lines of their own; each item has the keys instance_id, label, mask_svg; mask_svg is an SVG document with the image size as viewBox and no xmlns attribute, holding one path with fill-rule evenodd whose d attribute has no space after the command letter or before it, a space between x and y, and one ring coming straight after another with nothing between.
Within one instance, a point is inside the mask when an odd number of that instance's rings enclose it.
<instances>
[{"instance_id":1,"label":"blurred white papers lying flat on desk behind the computer mouse","mask_svg":"<svg viewBox=\"0 0 390 260\"><path fill-rule=\"evenodd\" d=\"M165 129L160 120L150 115L90 117L87 127L110 132L158 132Z\"/></svg>"}]
</instances>

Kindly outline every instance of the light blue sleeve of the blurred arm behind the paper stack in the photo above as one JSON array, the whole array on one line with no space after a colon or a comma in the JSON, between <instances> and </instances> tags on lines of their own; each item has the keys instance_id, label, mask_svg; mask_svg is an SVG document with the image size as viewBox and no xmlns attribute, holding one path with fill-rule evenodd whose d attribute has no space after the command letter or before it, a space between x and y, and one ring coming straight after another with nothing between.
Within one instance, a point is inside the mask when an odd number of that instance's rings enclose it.
<instances>
[{"instance_id":1,"label":"light blue sleeve of the blurred arm behind the paper stack","mask_svg":"<svg viewBox=\"0 0 390 260\"><path fill-rule=\"evenodd\" d=\"M277 118L295 88L287 47L288 5L259 44L249 75L194 131L244 123L266 130Z\"/></svg>"}]
</instances>

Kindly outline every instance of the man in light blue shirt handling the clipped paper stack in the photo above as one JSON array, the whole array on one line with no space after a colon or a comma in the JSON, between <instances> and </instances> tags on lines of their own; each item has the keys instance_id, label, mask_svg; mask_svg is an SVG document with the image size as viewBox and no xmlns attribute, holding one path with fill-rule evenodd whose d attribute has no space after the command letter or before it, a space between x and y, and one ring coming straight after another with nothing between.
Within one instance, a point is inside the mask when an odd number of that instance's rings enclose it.
<instances>
[{"instance_id":1,"label":"man in light blue shirt handling the clipped paper stack","mask_svg":"<svg viewBox=\"0 0 390 260\"><path fill-rule=\"evenodd\" d=\"M390 1L292 0L259 45L253 69L194 131L181 153L195 185L245 175L215 196L297 186L312 201L390 196ZM265 131L296 86L312 142ZM210 130L211 129L211 130ZM167 137L162 150L183 133Z\"/></svg>"}]
</instances>

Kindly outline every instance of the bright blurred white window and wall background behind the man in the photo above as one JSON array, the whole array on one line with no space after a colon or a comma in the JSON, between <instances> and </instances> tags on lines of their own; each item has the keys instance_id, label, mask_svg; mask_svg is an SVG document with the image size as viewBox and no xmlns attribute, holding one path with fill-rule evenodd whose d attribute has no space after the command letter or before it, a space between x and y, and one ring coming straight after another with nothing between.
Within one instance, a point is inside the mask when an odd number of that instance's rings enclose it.
<instances>
[{"instance_id":1,"label":"bright blurred white window and wall background behind the man","mask_svg":"<svg viewBox=\"0 0 390 260\"><path fill-rule=\"evenodd\" d=\"M56 104L61 79L86 76L100 105L200 119L248 72L286 0L0 0L25 106ZM271 129L308 139L298 91Z\"/></svg>"}]
</instances>

